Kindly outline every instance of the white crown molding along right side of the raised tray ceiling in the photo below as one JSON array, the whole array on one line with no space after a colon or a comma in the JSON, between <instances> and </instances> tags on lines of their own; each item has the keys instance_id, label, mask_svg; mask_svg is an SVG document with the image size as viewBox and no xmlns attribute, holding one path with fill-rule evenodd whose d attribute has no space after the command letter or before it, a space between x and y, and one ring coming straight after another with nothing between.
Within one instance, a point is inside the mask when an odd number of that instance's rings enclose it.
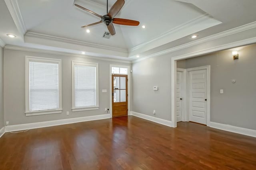
<instances>
[{"instance_id":1,"label":"white crown molding along right side of the raised tray ceiling","mask_svg":"<svg viewBox=\"0 0 256 170\"><path fill-rule=\"evenodd\" d=\"M155 37L155 38L151 39L150 41L147 41L145 43L141 43L140 45L137 45L137 46L131 48L129 52L139 50L139 49L145 47L146 45L148 45L150 43L153 43L154 41L157 41L157 40L162 39L164 37L173 35L177 32L182 31L183 29L191 27L192 25L198 24L201 21L207 20L208 18L212 18L212 17L209 14L204 14L204 15L198 16L198 17L194 18L193 20L187 21L187 22L185 22L181 25L178 25L178 26L174 27L173 29L170 29L169 31L163 33L162 35L160 35L158 37Z\"/></svg>"}]
</instances>

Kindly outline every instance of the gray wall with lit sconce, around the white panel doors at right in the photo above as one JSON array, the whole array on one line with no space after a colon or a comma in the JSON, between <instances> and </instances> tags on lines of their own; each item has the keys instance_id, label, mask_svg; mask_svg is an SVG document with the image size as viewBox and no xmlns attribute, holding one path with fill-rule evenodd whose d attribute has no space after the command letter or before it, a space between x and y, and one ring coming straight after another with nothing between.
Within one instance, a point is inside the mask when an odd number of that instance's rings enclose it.
<instances>
[{"instance_id":1,"label":"gray wall with lit sconce, around the white panel doors at right","mask_svg":"<svg viewBox=\"0 0 256 170\"><path fill-rule=\"evenodd\" d=\"M238 53L238 60L231 50L187 59L186 68L211 66L210 121L256 130L256 45Z\"/></svg>"}]
</instances>

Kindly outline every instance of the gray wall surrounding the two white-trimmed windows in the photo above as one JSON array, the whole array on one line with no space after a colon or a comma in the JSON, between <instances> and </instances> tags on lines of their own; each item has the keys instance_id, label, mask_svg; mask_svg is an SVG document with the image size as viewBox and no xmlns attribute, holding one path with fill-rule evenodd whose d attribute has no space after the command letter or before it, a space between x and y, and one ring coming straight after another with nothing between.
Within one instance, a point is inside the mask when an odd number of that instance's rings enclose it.
<instances>
[{"instance_id":1,"label":"gray wall surrounding the two white-trimmed windows","mask_svg":"<svg viewBox=\"0 0 256 170\"><path fill-rule=\"evenodd\" d=\"M25 56L62 59L62 113L25 116ZM99 63L99 110L72 112L71 61ZM85 57L66 57L44 53L33 53L4 49L4 119L9 125L69 119L105 114L110 105L109 65L122 64L109 61L88 59ZM129 64L128 64L129 65ZM107 89L107 93L102 93ZM70 115L66 115L66 111Z\"/></svg>"}]
</instances>

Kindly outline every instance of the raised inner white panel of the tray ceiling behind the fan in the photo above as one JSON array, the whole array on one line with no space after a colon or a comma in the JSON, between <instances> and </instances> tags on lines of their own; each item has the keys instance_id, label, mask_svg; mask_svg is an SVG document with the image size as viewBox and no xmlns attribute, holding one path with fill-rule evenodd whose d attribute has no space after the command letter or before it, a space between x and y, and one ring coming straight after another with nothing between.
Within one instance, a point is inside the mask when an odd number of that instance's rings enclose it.
<instances>
[{"instance_id":1,"label":"raised inner white panel of the tray ceiling behind the fan","mask_svg":"<svg viewBox=\"0 0 256 170\"><path fill-rule=\"evenodd\" d=\"M98 0L96 2L75 0L75 3L100 15L106 14L106 0ZM113 3L113 0L110 1L109 6L112 6ZM90 27L90 33L86 33L86 29L81 28L82 25L100 21L100 18L73 6L73 2L70 0L18 0L18 6L26 29L29 32L121 49L136 47L206 14L194 5L183 2L172 0L161 0L161 2L155 0L130 0L130 2L126 2L117 17L138 20L141 25L146 25L146 29L141 26L133 27L115 24L116 35L110 39L105 39L102 37L104 32L107 31L104 23ZM210 27L215 24L210 23L207 26Z\"/></svg>"}]
</instances>

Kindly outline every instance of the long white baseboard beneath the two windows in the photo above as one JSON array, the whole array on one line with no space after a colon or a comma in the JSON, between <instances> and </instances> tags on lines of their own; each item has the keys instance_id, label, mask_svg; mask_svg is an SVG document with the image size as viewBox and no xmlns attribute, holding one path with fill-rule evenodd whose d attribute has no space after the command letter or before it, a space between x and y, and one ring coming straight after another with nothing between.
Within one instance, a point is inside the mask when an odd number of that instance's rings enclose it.
<instances>
[{"instance_id":1,"label":"long white baseboard beneath the two windows","mask_svg":"<svg viewBox=\"0 0 256 170\"><path fill-rule=\"evenodd\" d=\"M10 125L5 127L5 132L22 131L26 129L36 129L41 127L65 125L70 123L78 123L83 121L92 121L92 120L100 120L100 119L108 119L108 118L111 118L110 114L87 116L87 117L76 117L71 119L61 119L61 120L54 120L54 121L43 121L43 122L27 123L27 124L21 124L21 125Z\"/></svg>"}]
</instances>

